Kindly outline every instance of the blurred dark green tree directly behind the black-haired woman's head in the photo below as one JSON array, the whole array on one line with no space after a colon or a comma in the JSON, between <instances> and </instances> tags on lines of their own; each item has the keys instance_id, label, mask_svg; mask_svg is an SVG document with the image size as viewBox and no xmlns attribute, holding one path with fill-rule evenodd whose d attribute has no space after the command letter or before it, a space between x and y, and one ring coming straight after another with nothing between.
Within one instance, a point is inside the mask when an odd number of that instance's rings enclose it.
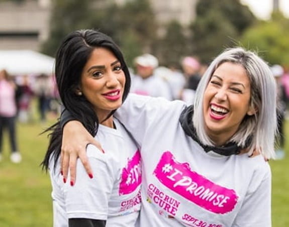
<instances>
[{"instance_id":1,"label":"blurred dark green tree directly behind the black-haired woman's head","mask_svg":"<svg viewBox=\"0 0 289 227\"><path fill-rule=\"evenodd\" d=\"M96 29L111 36L128 63L149 50L156 23L148 0L131 0L124 6L98 0L53 0L50 38L43 52L53 56L61 40L76 29Z\"/></svg>"}]
</instances>

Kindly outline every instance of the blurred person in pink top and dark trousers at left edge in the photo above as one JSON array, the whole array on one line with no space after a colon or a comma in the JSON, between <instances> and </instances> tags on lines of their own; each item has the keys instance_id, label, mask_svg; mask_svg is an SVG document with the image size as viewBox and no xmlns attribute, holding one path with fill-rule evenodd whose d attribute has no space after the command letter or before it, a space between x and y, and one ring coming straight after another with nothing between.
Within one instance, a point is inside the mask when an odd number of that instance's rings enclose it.
<instances>
[{"instance_id":1,"label":"blurred person in pink top and dark trousers at left edge","mask_svg":"<svg viewBox=\"0 0 289 227\"><path fill-rule=\"evenodd\" d=\"M3 158L3 134L5 129L8 130L9 134L11 161L20 163L22 160L16 137L16 113L16 84L10 78L8 72L3 69L0 71L0 161Z\"/></svg>"}]
</instances>

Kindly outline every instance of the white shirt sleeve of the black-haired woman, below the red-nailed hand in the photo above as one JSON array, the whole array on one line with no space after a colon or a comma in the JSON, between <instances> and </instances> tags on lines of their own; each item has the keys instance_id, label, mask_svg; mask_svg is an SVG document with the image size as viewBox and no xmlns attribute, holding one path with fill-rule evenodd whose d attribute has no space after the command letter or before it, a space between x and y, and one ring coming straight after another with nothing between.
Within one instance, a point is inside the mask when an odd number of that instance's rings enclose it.
<instances>
[{"instance_id":1,"label":"white shirt sleeve of the black-haired woman, below the red-nailed hand","mask_svg":"<svg viewBox=\"0 0 289 227\"><path fill-rule=\"evenodd\" d=\"M95 174L90 179L80 160L77 160L75 185L70 186L68 179L63 188L66 213L68 218L107 220L118 164L109 154L103 154L93 145L88 145L86 152Z\"/></svg>"}]
</instances>

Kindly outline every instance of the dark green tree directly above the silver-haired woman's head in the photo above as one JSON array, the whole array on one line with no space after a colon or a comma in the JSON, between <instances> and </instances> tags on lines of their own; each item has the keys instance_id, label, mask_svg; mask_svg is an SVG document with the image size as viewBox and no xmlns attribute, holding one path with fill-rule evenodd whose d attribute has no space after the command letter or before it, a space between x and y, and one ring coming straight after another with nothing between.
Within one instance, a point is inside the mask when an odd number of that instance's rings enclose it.
<instances>
[{"instance_id":1,"label":"dark green tree directly above the silver-haired woman's head","mask_svg":"<svg viewBox=\"0 0 289 227\"><path fill-rule=\"evenodd\" d=\"M196 13L190 27L191 48L205 63L225 47L235 46L245 29L256 20L248 7L231 0L199 1Z\"/></svg>"}]
</instances>

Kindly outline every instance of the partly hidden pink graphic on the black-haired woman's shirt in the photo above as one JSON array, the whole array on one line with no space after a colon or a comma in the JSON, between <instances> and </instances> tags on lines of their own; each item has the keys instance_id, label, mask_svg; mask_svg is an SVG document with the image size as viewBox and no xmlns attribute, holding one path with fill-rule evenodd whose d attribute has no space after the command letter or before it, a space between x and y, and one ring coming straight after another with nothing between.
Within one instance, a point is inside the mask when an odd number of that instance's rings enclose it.
<instances>
[{"instance_id":1,"label":"partly hidden pink graphic on the black-haired woman's shirt","mask_svg":"<svg viewBox=\"0 0 289 227\"><path fill-rule=\"evenodd\" d=\"M137 150L135 155L128 160L128 164L122 171L119 194L129 194L136 190L141 183L141 155Z\"/></svg>"}]
</instances>

